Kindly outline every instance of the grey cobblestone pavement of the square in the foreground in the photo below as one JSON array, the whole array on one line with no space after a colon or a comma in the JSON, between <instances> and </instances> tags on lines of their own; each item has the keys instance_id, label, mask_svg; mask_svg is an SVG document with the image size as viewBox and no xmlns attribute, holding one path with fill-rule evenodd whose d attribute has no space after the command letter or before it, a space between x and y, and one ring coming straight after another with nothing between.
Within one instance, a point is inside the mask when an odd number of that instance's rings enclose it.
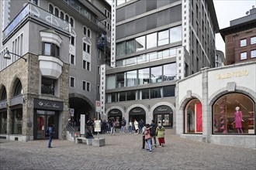
<instances>
[{"instance_id":1,"label":"grey cobblestone pavement of the square in the foreground","mask_svg":"<svg viewBox=\"0 0 256 170\"><path fill-rule=\"evenodd\" d=\"M106 146L72 141L0 141L0 169L256 169L256 150L206 144L166 131L164 148L141 149L140 134L100 134ZM97 138L97 137L96 137Z\"/></svg>"}]
</instances>

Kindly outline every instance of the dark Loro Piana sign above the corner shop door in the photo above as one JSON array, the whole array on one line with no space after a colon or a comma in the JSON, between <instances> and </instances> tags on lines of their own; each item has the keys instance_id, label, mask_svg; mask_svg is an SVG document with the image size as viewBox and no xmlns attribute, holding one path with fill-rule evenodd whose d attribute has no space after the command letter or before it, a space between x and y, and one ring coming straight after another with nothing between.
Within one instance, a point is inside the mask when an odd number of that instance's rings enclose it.
<instances>
[{"instance_id":1,"label":"dark Loro Piana sign above the corner shop door","mask_svg":"<svg viewBox=\"0 0 256 170\"><path fill-rule=\"evenodd\" d=\"M37 109L63 110L63 102L53 100L34 99L34 107Z\"/></svg>"}]
</instances>

